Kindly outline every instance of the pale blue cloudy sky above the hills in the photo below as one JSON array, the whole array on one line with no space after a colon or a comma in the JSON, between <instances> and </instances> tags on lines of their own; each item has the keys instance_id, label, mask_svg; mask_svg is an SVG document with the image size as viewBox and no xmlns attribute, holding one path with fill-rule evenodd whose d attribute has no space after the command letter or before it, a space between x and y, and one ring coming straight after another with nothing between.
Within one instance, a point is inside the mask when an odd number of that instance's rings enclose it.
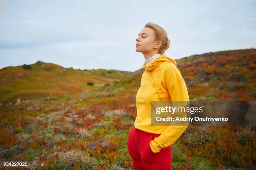
<instances>
[{"instance_id":1,"label":"pale blue cloudy sky above the hills","mask_svg":"<svg viewBox=\"0 0 256 170\"><path fill-rule=\"evenodd\" d=\"M40 60L136 71L148 22L166 30L173 59L255 48L255 9L256 0L0 0L0 69Z\"/></svg>"}]
</instances>

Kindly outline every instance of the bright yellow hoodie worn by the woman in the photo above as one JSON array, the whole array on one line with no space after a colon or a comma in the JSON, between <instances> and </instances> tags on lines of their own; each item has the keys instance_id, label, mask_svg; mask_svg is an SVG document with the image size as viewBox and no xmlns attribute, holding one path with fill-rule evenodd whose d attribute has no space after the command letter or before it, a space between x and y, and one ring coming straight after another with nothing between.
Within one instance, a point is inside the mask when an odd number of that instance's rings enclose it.
<instances>
[{"instance_id":1,"label":"bright yellow hoodie worn by the woman","mask_svg":"<svg viewBox=\"0 0 256 170\"><path fill-rule=\"evenodd\" d=\"M148 133L161 134L151 140L150 148L154 153L172 145L188 126L151 125L151 101L189 101L185 81L176 66L176 61L164 54L155 58L148 67L143 63L145 71L136 95L137 117L134 127Z\"/></svg>"}]
</instances>

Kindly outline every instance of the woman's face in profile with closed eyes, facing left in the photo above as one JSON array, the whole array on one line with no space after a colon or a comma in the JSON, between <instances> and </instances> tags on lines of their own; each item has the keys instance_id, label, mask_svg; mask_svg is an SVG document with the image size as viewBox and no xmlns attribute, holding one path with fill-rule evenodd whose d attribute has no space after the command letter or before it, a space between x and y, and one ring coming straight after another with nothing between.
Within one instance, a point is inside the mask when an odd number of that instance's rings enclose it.
<instances>
[{"instance_id":1,"label":"woman's face in profile with closed eyes, facing left","mask_svg":"<svg viewBox=\"0 0 256 170\"><path fill-rule=\"evenodd\" d=\"M154 42L154 37L154 30L147 27L143 28L136 38L136 51L145 54L155 50L154 47L157 43Z\"/></svg>"}]
</instances>

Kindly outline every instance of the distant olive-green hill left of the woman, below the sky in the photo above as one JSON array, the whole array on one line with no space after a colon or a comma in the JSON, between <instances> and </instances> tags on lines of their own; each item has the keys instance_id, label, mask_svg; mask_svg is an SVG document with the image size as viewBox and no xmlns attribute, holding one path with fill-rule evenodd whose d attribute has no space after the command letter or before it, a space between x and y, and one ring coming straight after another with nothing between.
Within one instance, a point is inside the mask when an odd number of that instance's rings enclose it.
<instances>
[{"instance_id":1,"label":"distant olive-green hill left of the woman, below the sky","mask_svg":"<svg viewBox=\"0 0 256 170\"><path fill-rule=\"evenodd\" d=\"M41 61L4 67L0 70L0 102L88 92L119 81L129 73L105 69L77 70ZM87 85L88 82L94 85Z\"/></svg>"}]
</instances>

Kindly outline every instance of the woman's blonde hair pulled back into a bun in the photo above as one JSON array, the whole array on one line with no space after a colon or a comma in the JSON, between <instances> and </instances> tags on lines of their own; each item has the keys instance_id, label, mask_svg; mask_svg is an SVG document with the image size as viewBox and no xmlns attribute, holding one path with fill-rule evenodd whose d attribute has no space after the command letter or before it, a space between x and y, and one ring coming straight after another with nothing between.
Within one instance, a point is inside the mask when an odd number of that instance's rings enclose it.
<instances>
[{"instance_id":1,"label":"woman's blonde hair pulled back into a bun","mask_svg":"<svg viewBox=\"0 0 256 170\"><path fill-rule=\"evenodd\" d=\"M155 41L161 41L162 45L159 49L159 53L160 54L164 54L164 52L169 48L170 46L170 40L167 36L166 31L161 28L159 25L155 24L155 23L146 23L146 25L144 27L148 27L151 28L152 30L154 30L155 32Z\"/></svg>"}]
</instances>

